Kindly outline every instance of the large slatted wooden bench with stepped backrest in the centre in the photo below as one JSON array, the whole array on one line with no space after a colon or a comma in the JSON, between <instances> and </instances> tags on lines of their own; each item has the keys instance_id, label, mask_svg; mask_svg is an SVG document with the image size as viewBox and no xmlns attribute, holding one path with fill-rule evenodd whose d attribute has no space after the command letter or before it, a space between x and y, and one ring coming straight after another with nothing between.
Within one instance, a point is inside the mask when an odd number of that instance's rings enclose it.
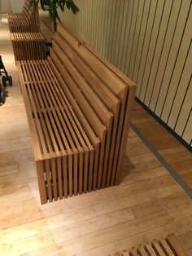
<instances>
[{"instance_id":1,"label":"large slatted wooden bench with stepped backrest in the centre","mask_svg":"<svg viewBox=\"0 0 192 256\"><path fill-rule=\"evenodd\" d=\"M63 25L48 60L17 64L41 203L120 183L133 82Z\"/></svg>"}]
</instances>

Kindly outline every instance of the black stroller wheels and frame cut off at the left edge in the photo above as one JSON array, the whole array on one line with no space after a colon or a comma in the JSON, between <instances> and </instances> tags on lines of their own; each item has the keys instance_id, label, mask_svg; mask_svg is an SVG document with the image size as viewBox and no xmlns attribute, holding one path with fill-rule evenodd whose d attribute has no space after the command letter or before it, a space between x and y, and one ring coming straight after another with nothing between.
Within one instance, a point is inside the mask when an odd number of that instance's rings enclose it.
<instances>
[{"instance_id":1,"label":"black stroller wheels and frame cut off at the left edge","mask_svg":"<svg viewBox=\"0 0 192 256\"><path fill-rule=\"evenodd\" d=\"M2 76L2 73L5 75ZM12 86L12 77L8 75L7 70L2 62L2 56L0 55L0 76L2 76L2 84L0 83L0 106L6 102L8 92L6 86Z\"/></svg>"}]
</instances>

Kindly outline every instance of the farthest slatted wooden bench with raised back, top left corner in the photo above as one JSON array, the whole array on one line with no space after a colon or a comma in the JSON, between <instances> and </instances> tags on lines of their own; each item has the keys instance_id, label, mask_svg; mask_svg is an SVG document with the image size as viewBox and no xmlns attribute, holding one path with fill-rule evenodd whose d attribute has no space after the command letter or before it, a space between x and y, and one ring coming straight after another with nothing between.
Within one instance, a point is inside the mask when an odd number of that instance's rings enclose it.
<instances>
[{"instance_id":1,"label":"farthest slatted wooden bench with raised back, top left corner","mask_svg":"<svg viewBox=\"0 0 192 256\"><path fill-rule=\"evenodd\" d=\"M29 8L29 0L25 0L21 13L8 13L8 24L11 33L40 32L38 7Z\"/></svg>"}]
</instances>

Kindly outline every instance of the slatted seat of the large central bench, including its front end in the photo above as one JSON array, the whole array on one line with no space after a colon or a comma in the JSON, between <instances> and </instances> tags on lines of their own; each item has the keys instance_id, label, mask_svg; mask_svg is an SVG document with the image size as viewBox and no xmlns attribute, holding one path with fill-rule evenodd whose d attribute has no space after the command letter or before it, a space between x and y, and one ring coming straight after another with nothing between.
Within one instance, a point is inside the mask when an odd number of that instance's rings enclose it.
<instances>
[{"instance_id":1,"label":"slatted seat of the large central bench, including its front end","mask_svg":"<svg viewBox=\"0 0 192 256\"><path fill-rule=\"evenodd\" d=\"M89 141L46 60L20 61L17 65L37 164L41 203L90 191L99 139L86 124L94 146Z\"/></svg>"}]
</instances>

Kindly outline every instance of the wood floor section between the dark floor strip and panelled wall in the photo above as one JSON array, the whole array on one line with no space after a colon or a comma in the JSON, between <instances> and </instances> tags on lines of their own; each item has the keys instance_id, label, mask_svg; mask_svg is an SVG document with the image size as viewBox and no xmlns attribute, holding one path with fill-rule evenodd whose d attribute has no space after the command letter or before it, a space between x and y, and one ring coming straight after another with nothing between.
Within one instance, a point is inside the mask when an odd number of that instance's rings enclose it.
<instances>
[{"instance_id":1,"label":"wood floor section between the dark floor strip and panelled wall","mask_svg":"<svg viewBox=\"0 0 192 256\"><path fill-rule=\"evenodd\" d=\"M168 161L183 182L192 188L191 152L136 102L133 106L132 122L157 152Z\"/></svg>"}]
</instances>

